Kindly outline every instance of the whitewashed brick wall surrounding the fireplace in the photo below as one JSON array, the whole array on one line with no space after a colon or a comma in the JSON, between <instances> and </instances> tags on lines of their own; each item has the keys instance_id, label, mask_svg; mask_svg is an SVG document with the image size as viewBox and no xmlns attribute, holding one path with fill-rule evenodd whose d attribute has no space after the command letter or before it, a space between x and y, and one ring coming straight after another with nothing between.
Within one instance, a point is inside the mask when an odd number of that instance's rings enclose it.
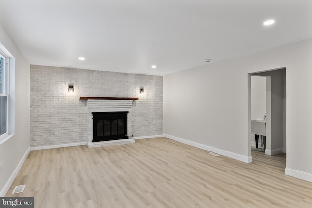
<instances>
[{"instance_id":1,"label":"whitewashed brick wall surrounding the fireplace","mask_svg":"<svg viewBox=\"0 0 312 208\"><path fill-rule=\"evenodd\" d=\"M69 83L74 92L68 92ZM138 97L133 135L163 134L162 76L31 65L30 87L31 147L87 141L87 106L79 96Z\"/></svg>"}]
</instances>

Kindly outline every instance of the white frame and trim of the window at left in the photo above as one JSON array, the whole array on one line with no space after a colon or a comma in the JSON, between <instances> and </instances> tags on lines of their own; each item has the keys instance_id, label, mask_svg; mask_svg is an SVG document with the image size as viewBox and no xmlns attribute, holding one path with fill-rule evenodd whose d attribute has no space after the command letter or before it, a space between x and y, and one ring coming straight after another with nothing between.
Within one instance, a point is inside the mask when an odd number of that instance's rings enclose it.
<instances>
[{"instance_id":1,"label":"white frame and trim of the window at left","mask_svg":"<svg viewBox=\"0 0 312 208\"><path fill-rule=\"evenodd\" d=\"M3 94L6 97L6 132L0 135L0 144L6 140L9 134L9 57L0 50L0 57L3 58Z\"/></svg>"}]
</instances>

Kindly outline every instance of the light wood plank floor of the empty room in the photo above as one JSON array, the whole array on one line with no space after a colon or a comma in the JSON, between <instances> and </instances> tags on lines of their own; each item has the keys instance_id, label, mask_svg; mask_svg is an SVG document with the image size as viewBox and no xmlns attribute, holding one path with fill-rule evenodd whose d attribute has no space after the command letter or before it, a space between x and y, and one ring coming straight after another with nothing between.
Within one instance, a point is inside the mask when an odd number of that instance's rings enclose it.
<instances>
[{"instance_id":1,"label":"light wood plank floor of the empty room","mask_svg":"<svg viewBox=\"0 0 312 208\"><path fill-rule=\"evenodd\" d=\"M253 163L166 138L31 151L17 185L36 208L311 208L312 183L284 175L286 155Z\"/></svg>"}]
</instances>

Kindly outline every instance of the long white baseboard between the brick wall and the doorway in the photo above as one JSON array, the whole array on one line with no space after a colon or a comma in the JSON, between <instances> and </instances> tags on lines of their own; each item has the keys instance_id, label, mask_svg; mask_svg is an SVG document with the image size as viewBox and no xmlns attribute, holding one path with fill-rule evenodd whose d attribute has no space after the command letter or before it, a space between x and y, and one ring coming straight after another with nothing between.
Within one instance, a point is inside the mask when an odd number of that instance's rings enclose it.
<instances>
[{"instance_id":1,"label":"long white baseboard between the brick wall and the doorway","mask_svg":"<svg viewBox=\"0 0 312 208\"><path fill-rule=\"evenodd\" d=\"M172 136L172 135L169 135L169 134L164 134L163 136L168 138L168 139L172 139L172 140L184 143L184 144L188 144L188 145L191 145L193 147L197 147L197 148L200 148L200 149L203 149L203 150L212 151L212 152L215 152L217 154L221 154L221 155L224 155L224 156L227 156L227 157L230 157L230 158L233 158L235 160L239 160L239 161L242 161L242 162L245 162L245 163L251 163L253 161L251 156L244 156L244 155L237 154L237 153L234 153L234 152L231 152L231 151L221 150L221 149L218 149L218 148L210 147L208 145L200 144L200 143L193 142L193 141L190 141L190 140L187 140L187 139L182 139L182 138L179 138L179 137L176 137L176 136Z\"/></svg>"}]
</instances>

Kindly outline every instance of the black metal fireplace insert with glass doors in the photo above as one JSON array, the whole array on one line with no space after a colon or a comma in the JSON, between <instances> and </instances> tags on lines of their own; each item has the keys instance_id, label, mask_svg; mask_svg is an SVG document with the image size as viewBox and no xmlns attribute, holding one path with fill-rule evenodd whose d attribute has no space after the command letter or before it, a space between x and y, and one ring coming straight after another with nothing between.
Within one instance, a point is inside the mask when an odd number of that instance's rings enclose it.
<instances>
[{"instance_id":1,"label":"black metal fireplace insert with glass doors","mask_svg":"<svg viewBox=\"0 0 312 208\"><path fill-rule=\"evenodd\" d=\"M92 142L127 139L128 111L92 112Z\"/></svg>"}]
</instances>

